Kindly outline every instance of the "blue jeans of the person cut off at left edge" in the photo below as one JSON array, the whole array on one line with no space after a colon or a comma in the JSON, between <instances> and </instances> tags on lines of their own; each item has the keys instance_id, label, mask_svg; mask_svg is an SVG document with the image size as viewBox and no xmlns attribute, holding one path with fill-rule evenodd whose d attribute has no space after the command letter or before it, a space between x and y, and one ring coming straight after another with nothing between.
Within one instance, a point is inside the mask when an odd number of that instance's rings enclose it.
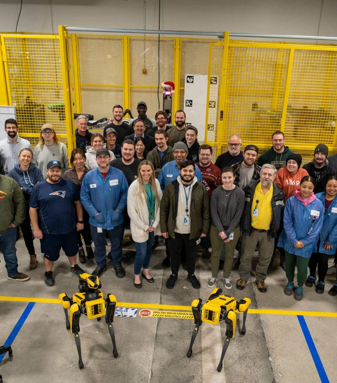
<instances>
[{"instance_id":1,"label":"blue jeans of the person cut off at left edge","mask_svg":"<svg viewBox=\"0 0 337 383\"><path fill-rule=\"evenodd\" d=\"M18 275L18 259L16 258L16 232L18 228L10 228L0 234L0 250L5 259L5 266L8 277L16 277Z\"/></svg>"}]
</instances>

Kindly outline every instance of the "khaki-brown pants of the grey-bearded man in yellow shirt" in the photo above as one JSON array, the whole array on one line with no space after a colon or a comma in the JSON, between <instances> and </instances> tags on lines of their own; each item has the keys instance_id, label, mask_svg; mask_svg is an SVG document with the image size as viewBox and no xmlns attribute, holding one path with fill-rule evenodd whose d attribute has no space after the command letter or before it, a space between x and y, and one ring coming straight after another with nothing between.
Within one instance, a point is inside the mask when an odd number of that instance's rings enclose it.
<instances>
[{"instance_id":1,"label":"khaki-brown pants of the grey-bearded man in yellow shirt","mask_svg":"<svg viewBox=\"0 0 337 383\"><path fill-rule=\"evenodd\" d=\"M275 238L270 237L267 231L259 232L252 229L252 234L242 236L242 255L239 266L239 275L243 280L248 280L252 268L252 258L259 244L259 262L256 265L256 280L264 281L267 278L267 268L272 259Z\"/></svg>"}]
</instances>

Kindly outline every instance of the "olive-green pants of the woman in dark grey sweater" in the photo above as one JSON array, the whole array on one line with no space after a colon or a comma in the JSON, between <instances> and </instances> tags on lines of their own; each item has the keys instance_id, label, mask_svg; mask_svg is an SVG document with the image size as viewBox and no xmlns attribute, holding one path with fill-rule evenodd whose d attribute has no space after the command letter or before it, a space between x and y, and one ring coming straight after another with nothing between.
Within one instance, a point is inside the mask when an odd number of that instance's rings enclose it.
<instances>
[{"instance_id":1,"label":"olive-green pants of the woman in dark grey sweater","mask_svg":"<svg viewBox=\"0 0 337 383\"><path fill-rule=\"evenodd\" d=\"M233 265L235 246L236 246L236 243L238 242L239 237L240 237L240 228L236 228L234 230L233 240L225 243L225 263L223 265L224 278L228 278L230 276L232 265ZM211 228L210 228L210 240L212 243L212 257L211 257L212 277L217 278L218 271L219 271L220 255L221 255L222 246L223 246L223 239L219 237L219 231L213 225L211 225Z\"/></svg>"}]
</instances>

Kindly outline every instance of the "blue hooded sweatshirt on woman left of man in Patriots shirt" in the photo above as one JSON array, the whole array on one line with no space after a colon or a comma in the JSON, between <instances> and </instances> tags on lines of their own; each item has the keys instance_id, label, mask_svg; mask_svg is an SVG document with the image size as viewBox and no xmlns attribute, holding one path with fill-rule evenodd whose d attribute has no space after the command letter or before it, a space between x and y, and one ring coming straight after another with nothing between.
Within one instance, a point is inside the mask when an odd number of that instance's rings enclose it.
<instances>
[{"instance_id":1,"label":"blue hooded sweatshirt on woman left of man in Patriots shirt","mask_svg":"<svg viewBox=\"0 0 337 383\"><path fill-rule=\"evenodd\" d=\"M29 165L28 170L21 170L20 164L15 164L14 169L8 172L8 177L13 178L20 185L26 201L30 200L33 186L37 182L43 181L41 170L33 162Z\"/></svg>"}]
</instances>

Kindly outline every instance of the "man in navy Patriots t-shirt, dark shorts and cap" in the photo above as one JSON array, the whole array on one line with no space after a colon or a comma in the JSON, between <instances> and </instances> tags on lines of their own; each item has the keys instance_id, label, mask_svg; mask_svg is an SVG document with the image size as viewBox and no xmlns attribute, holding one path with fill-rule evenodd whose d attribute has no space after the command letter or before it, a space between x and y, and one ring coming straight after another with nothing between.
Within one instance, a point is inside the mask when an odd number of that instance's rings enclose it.
<instances>
[{"instance_id":1,"label":"man in navy Patriots t-shirt, dark shorts and cap","mask_svg":"<svg viewBox=\"0 0 337 383\"><path fill-rule=\"evenodd\" d=\"M61 178L62 165L59 161L47 164L47 179L37 183L31 192L29 215L34 236L40 239L43 262L46 267L44 282L54 285L52 266L59 259L61 247L70 262L70 270L80 275L84 271L76 263L78 252L77 232L83 229L83 210L75 184ZM39 209L39 222L37 219ZM75 221L75 209L78 221Z\"/></svg>"}]
</instances>

